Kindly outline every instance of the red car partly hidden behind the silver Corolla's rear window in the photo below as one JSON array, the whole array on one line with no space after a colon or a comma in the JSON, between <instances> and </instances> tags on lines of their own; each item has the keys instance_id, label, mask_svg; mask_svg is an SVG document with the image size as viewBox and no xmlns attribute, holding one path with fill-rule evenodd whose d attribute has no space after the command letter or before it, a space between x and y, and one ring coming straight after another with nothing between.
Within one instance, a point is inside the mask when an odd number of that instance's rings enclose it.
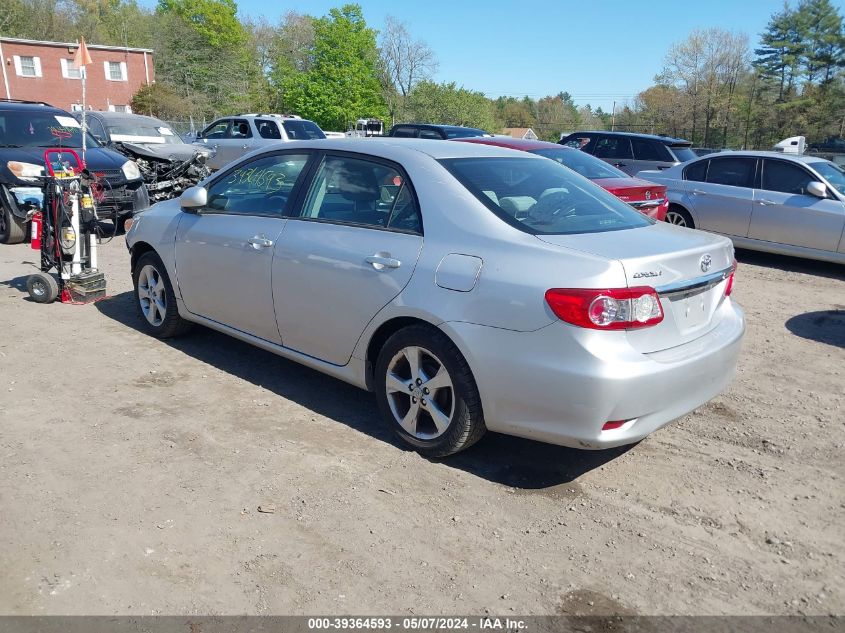
<instances>
[{"instance_id":1,"label":"red car partly hidden behind the silver Corolla's rear window","mask_svg":"<svg viewBox=\"0 0 845 633\"><path fill-rule=\"evenodd\" d=\"M460 143L483 143L508 147L551 158L607 189L643 215L661 222L666 218L666 212L669 210L669 198L666 197L665 185L633 178L603 160L572 147L505 136L477 136L453 140Z\"/></svg>"}]
</instances>

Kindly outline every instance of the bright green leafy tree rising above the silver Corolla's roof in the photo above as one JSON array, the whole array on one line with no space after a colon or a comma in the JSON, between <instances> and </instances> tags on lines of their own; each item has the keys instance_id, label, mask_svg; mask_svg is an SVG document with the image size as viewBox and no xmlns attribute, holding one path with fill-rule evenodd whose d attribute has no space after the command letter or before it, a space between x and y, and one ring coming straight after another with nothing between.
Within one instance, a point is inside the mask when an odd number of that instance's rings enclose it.
<instances>
[{"instance_id":1,"label":"bright green leafy tree rising above the silver Corolla's roof","mask_svg":"<svg viewBox=\"0 0 845 633\"><path fill-rule=\"evenodd\" d=\"M305 71L288 69L273 75L286 110L327 130L345 130L359 117L387 117L376 32L367 26L359 5L332 9L314 22L308 59Z\"/></svg>"}]
</instances>

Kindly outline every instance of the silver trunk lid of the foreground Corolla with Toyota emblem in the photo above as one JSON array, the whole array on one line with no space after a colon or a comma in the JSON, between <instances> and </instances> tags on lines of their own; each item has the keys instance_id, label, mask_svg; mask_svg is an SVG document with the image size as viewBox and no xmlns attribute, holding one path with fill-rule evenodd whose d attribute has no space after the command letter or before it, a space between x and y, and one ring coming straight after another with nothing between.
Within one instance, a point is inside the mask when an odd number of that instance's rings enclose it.
<instances>
[{"instance_id":1,"label":"silver trunk lid of the foreground Corolla with Toyota emblem","mask_svg":"<svg viewBox=\"0 0 845 633\"><path fill-rule=\"evenodd\" d=\"M537 237L617 260L628 287L658 291L663 321L627 331L631 345L642 353L683 345L719 324L717 308L727 283L724 271L734 261L733 244L727 238L663 222L625 231Z\"/></svg>"}]
</instances>

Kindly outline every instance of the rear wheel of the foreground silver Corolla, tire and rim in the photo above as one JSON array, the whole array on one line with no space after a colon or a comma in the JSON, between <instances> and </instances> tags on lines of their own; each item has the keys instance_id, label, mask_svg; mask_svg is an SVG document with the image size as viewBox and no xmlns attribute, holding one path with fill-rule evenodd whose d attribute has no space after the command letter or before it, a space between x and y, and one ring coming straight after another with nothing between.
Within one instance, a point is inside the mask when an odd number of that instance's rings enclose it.
<instances>
[{"instance_id":1,"label":"rear wheel of the foreground silver Corolla, tire and rim","mask_svg":"<svg viewBox=\"0 0 845 633\"><path fill-rule=\"evenodd\" d=\"M445 457L484 435L481 397L466 359L432 327L391 336L376 362L375 391L393 431L426 457Z\"/></svg>"}]
</instances>

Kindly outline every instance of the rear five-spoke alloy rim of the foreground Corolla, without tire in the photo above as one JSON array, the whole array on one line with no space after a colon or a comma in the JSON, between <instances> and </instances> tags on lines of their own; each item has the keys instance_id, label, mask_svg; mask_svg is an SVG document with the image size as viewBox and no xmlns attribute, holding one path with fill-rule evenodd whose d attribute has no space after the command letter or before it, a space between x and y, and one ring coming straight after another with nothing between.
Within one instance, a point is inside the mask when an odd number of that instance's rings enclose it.
<instances>
[{"instance_id":1,"label":"rear five-spoke alloy rim of the foreground Corolla, without tire","mask_svg":"<svg viewBox=\"0 0 845 633\"><path fill-rule=\"evenodd\" d=\"M443 435L455 413L455 388L449 371L423 347L401 349L388 363L387 402L409 435L433 440Z\"/></svg>"}]
</instances>

